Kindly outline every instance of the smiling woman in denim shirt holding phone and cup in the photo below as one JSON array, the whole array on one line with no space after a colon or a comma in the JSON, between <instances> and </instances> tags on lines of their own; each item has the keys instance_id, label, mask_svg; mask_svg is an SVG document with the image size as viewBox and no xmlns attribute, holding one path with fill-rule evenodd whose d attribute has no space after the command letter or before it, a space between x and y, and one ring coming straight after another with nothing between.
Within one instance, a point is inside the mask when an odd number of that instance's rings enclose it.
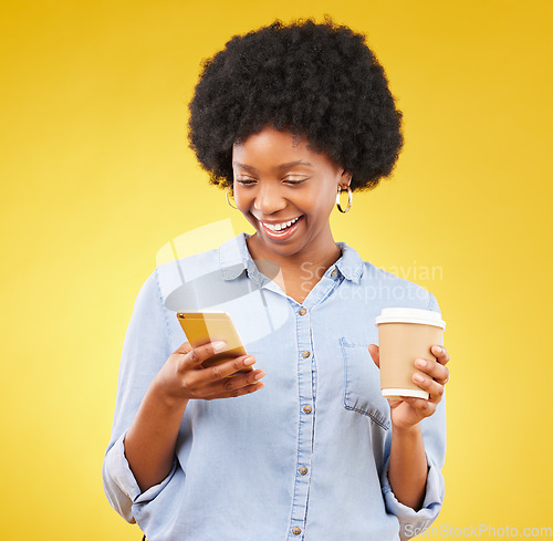
<instances>
[{"instance_id":1,"label":"smiling woman in denim shirt holding phone and cup","mask_svg":"<svg viewBox=\"0 0 553 541\"><path fill-rule=\"evenodd\" d=\"M328 223L336 195L375 187L401 147L382 66L330 20L276 22L205 63L190 113L200 164L255 233L143 285L104 462L111 503L150 541L420 533L444 498L448 354L436 344L438 363L416 362L428 400L388 402L374 321L439 308ZM228 311L248 355L204 367L225 344L186 342L167 308L182 275L199 285L178 306Z\"/></svg>"}]
</instances>

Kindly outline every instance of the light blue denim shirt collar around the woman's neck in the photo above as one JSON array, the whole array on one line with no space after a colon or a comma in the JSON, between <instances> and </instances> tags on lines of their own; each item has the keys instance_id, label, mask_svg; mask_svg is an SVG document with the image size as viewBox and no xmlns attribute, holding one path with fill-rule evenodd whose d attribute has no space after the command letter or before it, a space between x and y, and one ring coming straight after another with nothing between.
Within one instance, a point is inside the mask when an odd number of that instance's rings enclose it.
<instances>
[{"instance_id":1,"label":"light blue denim shirt collar around the woman's neck","mask_svg":"<svg viewBox=\"0 0 553 541\"><path fill-rule=\"evenodd\" d=\"M219 264L222 278L223 280L234 280L246 270L250 279L257 282L258 285L263 285L269 279L259 272L255 267L246 243L248 237L250 235L242 232L219 247ZM359 283L363 275L363 260L357 251L345 242L337 242L337 246L342 251L342 257L327 272L332 272L335 267L346 280Z\"/></svg>"}]
</instances>

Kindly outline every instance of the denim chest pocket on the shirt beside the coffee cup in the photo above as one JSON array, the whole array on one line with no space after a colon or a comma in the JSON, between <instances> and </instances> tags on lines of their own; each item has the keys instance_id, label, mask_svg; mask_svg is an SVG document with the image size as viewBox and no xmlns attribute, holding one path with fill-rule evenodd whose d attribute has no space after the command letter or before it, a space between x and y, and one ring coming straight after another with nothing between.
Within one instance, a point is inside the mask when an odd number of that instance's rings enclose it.
<instances>
[{"instance_id":1,"label":"denim chest pocket on the shirt beside the coffee cup","mask_svg":"<svg viewBox=\"0 0 553 541\"><path fill-rule=\"evenodd\" d=\"M368 344L340 340L344 357L344 407L366 415L389 429L388 400L380 395L380 373L368 353Z\"/></svg>"}]
</instances>

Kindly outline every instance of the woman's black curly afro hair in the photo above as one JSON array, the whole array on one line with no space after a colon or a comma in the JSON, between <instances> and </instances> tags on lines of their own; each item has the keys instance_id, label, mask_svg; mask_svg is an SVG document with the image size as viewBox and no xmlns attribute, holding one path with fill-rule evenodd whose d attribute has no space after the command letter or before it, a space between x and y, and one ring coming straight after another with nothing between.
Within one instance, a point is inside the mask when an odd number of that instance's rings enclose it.
<instances>
[{"instance_id":1,"label":"woman's black curly afro hair","mask_svg":"<svg viewBox=\"0 0 553 541\"><path fill-rule=\"evenodd\" d=\"M307 138L352 171L352 190L388 176L401 113L365 37L330 18L234 35L205 60L189 104L189 143L210 181L232 186L232 145L267 125Z\"/></svg>"}]
</instances>

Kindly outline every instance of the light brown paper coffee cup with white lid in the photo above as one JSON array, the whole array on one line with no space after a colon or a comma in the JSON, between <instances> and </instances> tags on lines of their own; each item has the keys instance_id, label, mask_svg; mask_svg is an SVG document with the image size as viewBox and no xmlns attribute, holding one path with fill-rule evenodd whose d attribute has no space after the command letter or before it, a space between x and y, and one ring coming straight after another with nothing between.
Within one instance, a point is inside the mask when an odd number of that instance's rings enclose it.
<instances>
[{"instance_id":1,"label":"light brown paper coffee cup with white lid","mask_svg":"<svg viewBox=\"0 0 553 541\"><path fill-rule=\"evenodd\" d=\"M387 398L427 398L413 381L416 358L436 362L430 347L441 343L446 322L438 312L414 308L385 308L375 324L380 351L380 389Z\"/></svg>"}]
</instances>

